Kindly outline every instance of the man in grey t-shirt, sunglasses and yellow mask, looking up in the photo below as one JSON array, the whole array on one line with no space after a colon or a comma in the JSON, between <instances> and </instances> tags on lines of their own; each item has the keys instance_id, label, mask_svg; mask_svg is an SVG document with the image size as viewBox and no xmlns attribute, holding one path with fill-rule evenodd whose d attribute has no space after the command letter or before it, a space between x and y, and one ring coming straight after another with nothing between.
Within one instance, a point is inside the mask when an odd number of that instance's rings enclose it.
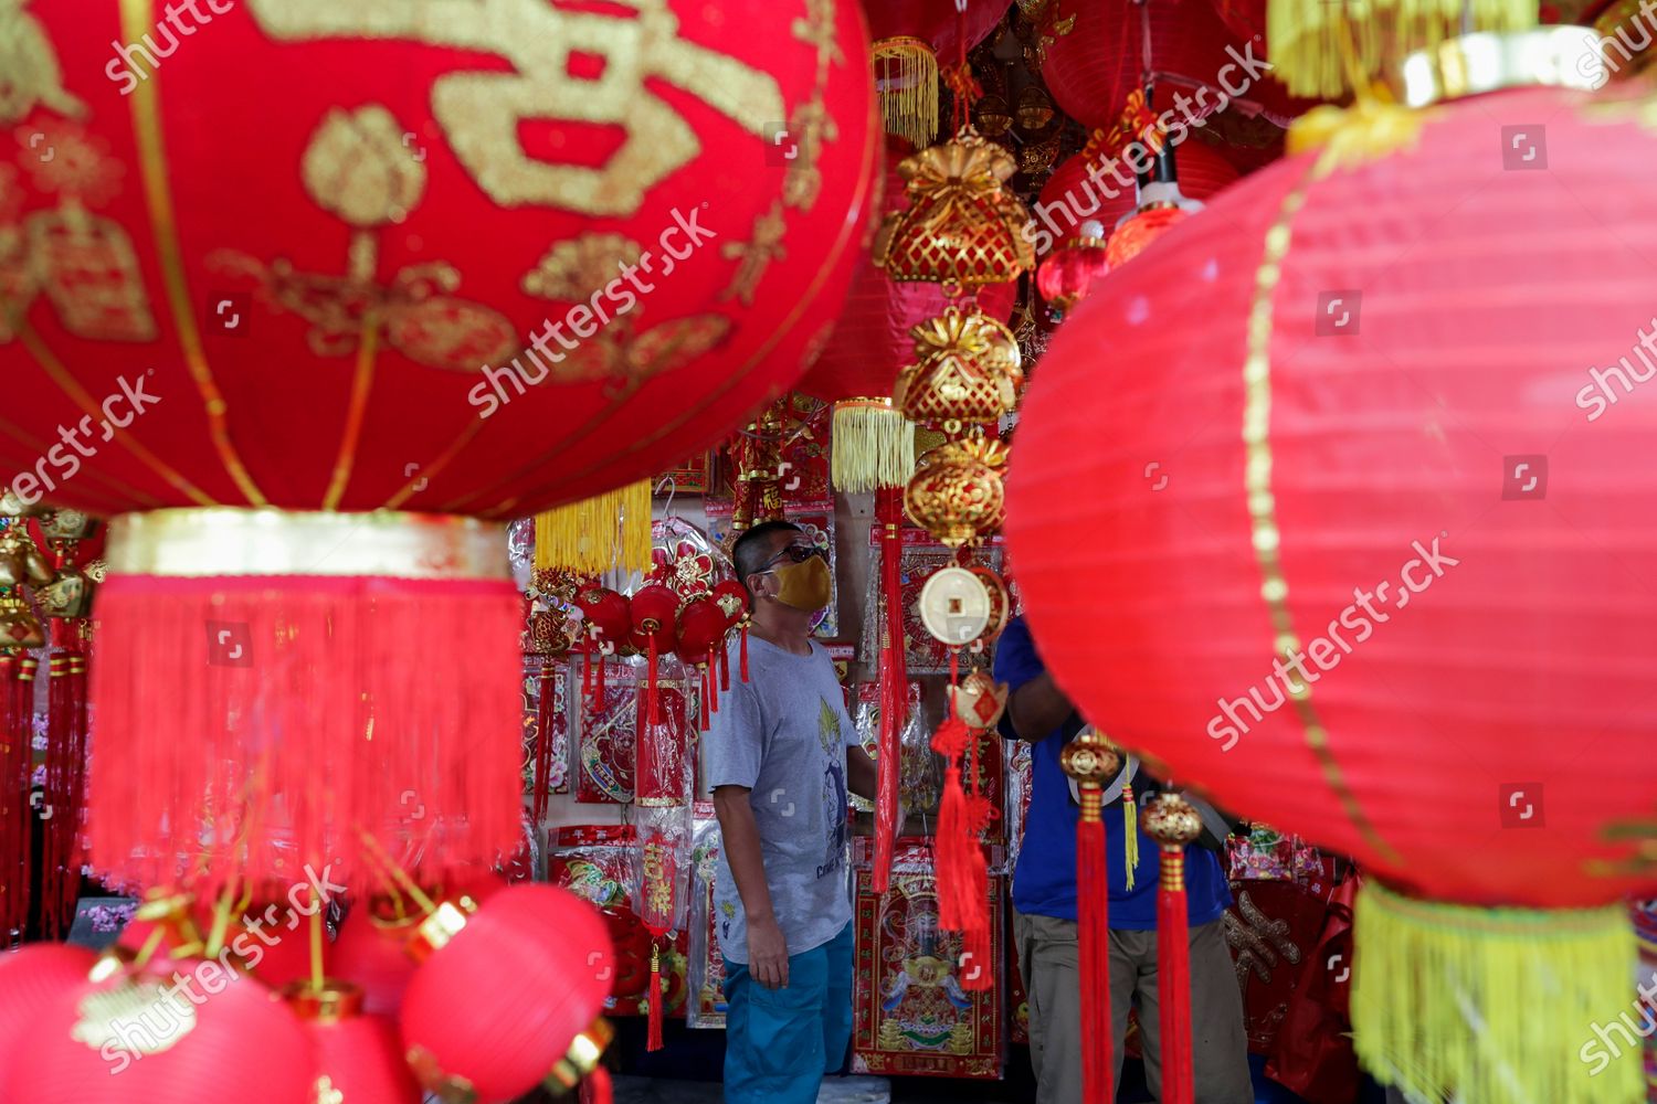
<instances>
[{"instance_id":1,"label":"man in grey t-shirt, sunglasses and yellow mask, looking up","mask_svg":"<svg viewBox=\"0 0 1657 1104\"><path fill-rule=\"evenodd\" d=\"M724 846L714 917L726 958L729 1104L812 1104L852 1041L847 790L875 793L812 614L828 556L767 521L732 550L752 599L749 680L732 682L703 738ZM736 657L731 657L732 664Z\"/></svg>"}]
</instances>

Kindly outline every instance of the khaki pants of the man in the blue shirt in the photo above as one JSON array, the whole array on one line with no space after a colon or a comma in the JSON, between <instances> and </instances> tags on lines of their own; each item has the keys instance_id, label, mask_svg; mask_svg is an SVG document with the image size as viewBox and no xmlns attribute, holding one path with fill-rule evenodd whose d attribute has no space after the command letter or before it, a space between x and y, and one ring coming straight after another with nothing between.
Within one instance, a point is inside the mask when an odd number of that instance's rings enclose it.
<instances>
[{"instance_id":1,"label":"khaki pants of the man in the blue shirt","mask_svg":"<svg viewBox=\"0 0 1657 1104\"><path fill-rule=\"evenodd\" d=\"M1012 915L1019 973L1031 1005L1031 1066L1036 1068L1037 1104L1084 1104L1082 1033L1100 1025L1082 1023L1082 990L1077 978L1075 922ZM1145 1046L1145 1081L1162 1099L1162 1023L1157 1016L1157 932L1110 932L1110 1054L1112 1086L1122 1081L1122 1038L1128 1005L1138 1006ZM1196 1068L1196 1104L1253 1104L1248 1071L1248 1036L1243 1028L1243 993L1238 990L1223 924L1191 929L1191 1063ZM1104 1104L1087 1101L1085 1104Z\"/></svg>"}]
</instances>

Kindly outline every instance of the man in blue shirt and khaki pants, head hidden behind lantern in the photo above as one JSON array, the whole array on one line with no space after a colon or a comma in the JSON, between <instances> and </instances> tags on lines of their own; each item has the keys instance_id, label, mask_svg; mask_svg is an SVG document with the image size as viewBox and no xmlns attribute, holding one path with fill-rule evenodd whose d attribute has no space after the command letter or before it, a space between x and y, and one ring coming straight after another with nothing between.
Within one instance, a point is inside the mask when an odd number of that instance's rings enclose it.
<instances>
[{"instance_id":1,"label":"man in blue shirt and khaki pants, head hidden behind lantern","mask_svg":"<svg viewBox=\"0 0 1657 1104\"><path fill-rule=\"evenodd\" d=\"M1002 735L1034 748L1031 808L1024 846L1012 872L1014 937L1019 973L1029 993L1031 1064L1037 1104L1082 1104L1084 1025L1075 953L1075 823L1080 806L1059 751L1082 730L1082 717L1047 674L1022 617L996 642L996 680L1011 695ZM1123 770L1127 765L1123 763ZM1143 775L1140 788L1148 788ZM1157 842L1140 831L1133 889L1127 887L1122 841L1122 778L1105 790L1107 881L1110 884L1110 1033L1115 1073L1122 1079L1122 1039L1128 1006L1140 1010L1145 1079L1162 1099L1160 1023L1157 1015ZM1114 796L1114 799L1112 799ZM1114 814L1112 814L1114 813ZM1206 838L1206 833L1205 833ZM1243 995L1226 948L1223 914L1231 892L1220 856L1198 844L1185 852L1185 892L1191 924L1191 1051L1198 1104L1253 1104ZM1089 1104L1095 1104L1089 1101Z\"/></svg>"}]
</instances>

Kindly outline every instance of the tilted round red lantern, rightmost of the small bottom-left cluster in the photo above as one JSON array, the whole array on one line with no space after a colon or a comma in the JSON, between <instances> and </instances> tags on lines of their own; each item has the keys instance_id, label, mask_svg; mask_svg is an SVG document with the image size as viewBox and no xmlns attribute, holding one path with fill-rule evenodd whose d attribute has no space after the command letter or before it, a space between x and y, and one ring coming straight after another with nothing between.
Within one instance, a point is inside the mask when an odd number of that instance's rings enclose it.
<instances>
[{"instance_id":1,"label":"tilted round red lantern, rightmost of the small bottom-left cluster","mask_svg":"<svg viewBox=\"0 0 1657 1104\"><path fill-rule=\"evenodd\" d=\"M471 915L444 909L461 927L414 973L403 1043L429 1089L467 1086L479 1104L515 1099L603 1008L610 935L595 909L543 884L504 889Z\"/></svg>"}]
</instances>

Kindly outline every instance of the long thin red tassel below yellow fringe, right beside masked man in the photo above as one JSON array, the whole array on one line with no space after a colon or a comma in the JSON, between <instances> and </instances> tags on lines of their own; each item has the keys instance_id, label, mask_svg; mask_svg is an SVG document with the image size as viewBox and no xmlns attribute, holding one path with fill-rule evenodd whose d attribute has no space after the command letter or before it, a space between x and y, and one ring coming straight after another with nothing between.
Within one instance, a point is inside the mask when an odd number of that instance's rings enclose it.
<instances>
[{"instance_id":1,"label":"long thin red tassel below yellow fringe, right beside masked man","mask_svg":"<svg viewBox=\"0 0 1657 1104\"><path fill-rule=\"evenodd\" d=\"M903 488L882 488L875 497L880 528L880 589L886 621L880 634L880 742L875 756L875 866L870 887L891 886L891 854L898 831L898 788L903 766L900 735L908 720L910 672L903 649Z\"/></svg>"}]
</instances>

